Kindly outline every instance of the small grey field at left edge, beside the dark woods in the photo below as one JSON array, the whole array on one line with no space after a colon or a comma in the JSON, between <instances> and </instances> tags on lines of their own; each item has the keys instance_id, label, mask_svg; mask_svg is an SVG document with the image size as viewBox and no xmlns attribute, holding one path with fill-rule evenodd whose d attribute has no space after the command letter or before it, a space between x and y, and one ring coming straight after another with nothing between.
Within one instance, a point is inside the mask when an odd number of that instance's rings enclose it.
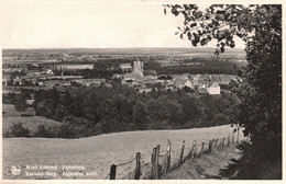
<instances>
[{"instance_id":1,"label":"small grey field at left edge, beside the dark woods","mask_svg":"<svg viewBox=\"0 0 286 184\"><path fill-rule=\"evenodd\" d=\"M2 104L2 131L10 130L10 126L14 123L22 123L23 127L28 128L31 133L37 130L38 125L45 125L45 127L59 126L59 122L55 122L41 116L21 116L20 112L14 110L13 105ZM33 108L29 108L24 114L34 114Z\"/></svg>"}]
</instances>

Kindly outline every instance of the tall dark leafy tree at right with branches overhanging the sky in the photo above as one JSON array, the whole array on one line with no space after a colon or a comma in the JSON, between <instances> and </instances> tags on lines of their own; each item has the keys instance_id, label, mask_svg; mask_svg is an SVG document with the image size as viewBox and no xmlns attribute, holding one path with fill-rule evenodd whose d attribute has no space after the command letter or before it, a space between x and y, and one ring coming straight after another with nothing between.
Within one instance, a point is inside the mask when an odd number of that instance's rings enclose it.
<instances>
[{"instance_id":1,"label":"tall dark leafy tree at right with branches overhanging the sky","mask_svg":"<svg viewBox=\"0 0 286 184\"><path fill-rule=\"evenodd\" d=\"M234 37L245 42L248 66L242 81L232 85L240 97L235 116L251 143L244 147L244 161L238 177L282 177L282 5L213 4L200 11L196 4L166 4L175 15L184 16L179 37L187 36L196 47L217 41L216 55L235 47ZM240 162L242 163L242 162ZM265 176L265 165L279 165L276 175ZM245 169L245 170L244 170ZM251 175L246 174L252 171ZM243 176L244 175L244 176Z\"/></svg>"}]
</instances>

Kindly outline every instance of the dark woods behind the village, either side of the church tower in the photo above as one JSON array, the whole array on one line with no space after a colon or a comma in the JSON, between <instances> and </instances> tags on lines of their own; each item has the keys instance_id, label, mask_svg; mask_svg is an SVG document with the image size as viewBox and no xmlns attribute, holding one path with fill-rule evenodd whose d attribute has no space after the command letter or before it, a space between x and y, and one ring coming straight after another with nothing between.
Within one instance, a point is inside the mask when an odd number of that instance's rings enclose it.
<instances>
[{"instance_id":1,"label":"dark woods behind the village, either side of the church tower","mask_svg":"<svg viewBox=\"0 0 286 184\"><path fill-rule=\"evenodd\" d=\"M65 74L80 74L84 78L106 78L110 79L114 73L122 74L123 71L120 69L120 64L131 62L132 59L112 59L112 60L101 60L97 61L94 65L94 69L85 69L77 71L66 71ZM191 65L186 66L185 64L198 62L201 65ZM221 59L211 59L206 58L195 58L195 59L185 59L179 66L168 66L162 67L158 62L154 60L144 61L144 70L155 70L157 74L182 74L182 73L211 73L211 74L237 74L238 67L234 62L221 60Z\"/></svg>"}]
</instances>

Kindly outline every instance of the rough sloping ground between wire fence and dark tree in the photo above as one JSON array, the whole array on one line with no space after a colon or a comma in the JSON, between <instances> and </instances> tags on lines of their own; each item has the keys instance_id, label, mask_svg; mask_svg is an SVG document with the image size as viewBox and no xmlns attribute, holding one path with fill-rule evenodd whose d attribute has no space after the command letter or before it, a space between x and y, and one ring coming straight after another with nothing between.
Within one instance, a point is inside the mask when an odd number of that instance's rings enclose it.
<instances>
[{"instance_id":1,"label":"rough sloping ground between wire fence and dark tree","mask_svg":"<svg viewBox=\"0 0 286 184\"><path fill-rule=\"evenodd\" d=\"M189 159L185 163L164 175L162 180L206 180L221 179L219 170L224 169L231 159L240 157L239 150L233 146L218 148L210 154L197 159Z\"/></svg>"}]
</instances>

